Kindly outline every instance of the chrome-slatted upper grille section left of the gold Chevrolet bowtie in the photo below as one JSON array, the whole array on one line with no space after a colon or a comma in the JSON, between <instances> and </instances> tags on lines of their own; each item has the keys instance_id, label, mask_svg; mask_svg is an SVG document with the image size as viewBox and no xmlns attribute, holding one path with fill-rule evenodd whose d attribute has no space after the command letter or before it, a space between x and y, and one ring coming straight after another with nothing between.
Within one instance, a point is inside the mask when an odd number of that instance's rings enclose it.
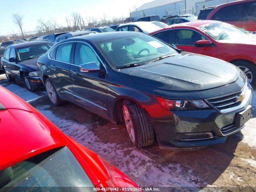
<instances>
[{"instance_id":1,"label":"chrome-slatted upper grille section left of the gold Chevrolet bowtie","mask_svg":"<svg viewBox=\"0 0 256 192\"><path fill-rule=\"evenodd\" d=\"M240 94L241 92L230 94L227 96L220 96L218 98L208 99L208 102L210 102L212 106L221 111L224 109L238 106L241 103L241 100L237 100Z\"/></svg>"}]
</instances>

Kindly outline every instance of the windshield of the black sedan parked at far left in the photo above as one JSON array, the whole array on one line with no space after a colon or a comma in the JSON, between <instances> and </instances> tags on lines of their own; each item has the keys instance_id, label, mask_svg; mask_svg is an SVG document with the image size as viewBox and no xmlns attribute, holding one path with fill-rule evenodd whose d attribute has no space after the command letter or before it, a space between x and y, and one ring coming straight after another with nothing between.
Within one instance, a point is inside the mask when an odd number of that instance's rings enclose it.
<instances>
[{"instance_id":1,"label":"windshield of the black sedan parked at far left","mask_svg":"<svg viewBox=\"0 0 256 192\"><path fill-rule=\"evenodd\" d=\"M18 59L20 61L25 61L28 59L33 59L40 57L42 54L46 53L50 48L51 44L42 44L42 45L35 45L26 48L20 48L17 50L18 52Z\"/></svg>"}]
</instances>

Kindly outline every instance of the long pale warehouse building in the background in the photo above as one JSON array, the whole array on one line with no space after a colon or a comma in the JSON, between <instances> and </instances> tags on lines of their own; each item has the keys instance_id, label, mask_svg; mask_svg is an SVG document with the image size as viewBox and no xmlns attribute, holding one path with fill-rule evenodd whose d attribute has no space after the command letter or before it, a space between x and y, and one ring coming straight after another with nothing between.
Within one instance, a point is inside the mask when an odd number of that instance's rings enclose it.
<instances>
[{"instance_id":1,"label":"long pale warehouse building in the background","mask_svg":"<svg viewBox=\"0 0 256 192\"><path fill-rule=\"evenodd\" d=\"M152 15L171 16L176 14L198 15L203 7L210 7L236 0L155 0L138 7L130 13L135 20Z\"/></svg>"}]
</instances>

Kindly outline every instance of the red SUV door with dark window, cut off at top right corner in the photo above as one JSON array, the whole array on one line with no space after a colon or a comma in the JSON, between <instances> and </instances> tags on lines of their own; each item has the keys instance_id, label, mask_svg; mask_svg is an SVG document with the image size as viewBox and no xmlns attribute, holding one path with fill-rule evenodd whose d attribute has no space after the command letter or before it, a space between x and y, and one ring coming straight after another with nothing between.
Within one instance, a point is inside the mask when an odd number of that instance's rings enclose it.
<instances>
[{"instance_id":1,"label":"red SUV door with dark window, cut off at top right corner","mask_svg":"<svg viewBox=\"0 0 256 192\"><path fill-rule=\"evenodd\" d=\"M244 7L242 28L256 31L256 1L247 2Z\"/></svg>"}]
</instances>

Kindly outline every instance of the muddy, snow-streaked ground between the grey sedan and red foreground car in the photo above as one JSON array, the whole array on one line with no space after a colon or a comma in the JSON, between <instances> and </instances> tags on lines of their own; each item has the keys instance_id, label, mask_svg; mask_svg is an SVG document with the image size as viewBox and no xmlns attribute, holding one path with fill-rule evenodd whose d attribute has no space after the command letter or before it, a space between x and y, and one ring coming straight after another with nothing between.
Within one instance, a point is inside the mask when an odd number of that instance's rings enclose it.
<instances>
[{"instance_id":1,"label":"muddy, snow-streaked ground between the grey sedan and red foreground car","mask_svg":"<svg viewBox=\"0 0 256 192\"><path fill-rule=\"evenodd\" d=\"M256 191L256 98L253 117L224 144L196 151L160 150L157 142L132 147L125 126L67 102L52 106L44 89L28 92L23 82L0 85L11 90L50 119L60 130L114 164L139 186L160 191Z\"/></svg>"}]
</instances>

